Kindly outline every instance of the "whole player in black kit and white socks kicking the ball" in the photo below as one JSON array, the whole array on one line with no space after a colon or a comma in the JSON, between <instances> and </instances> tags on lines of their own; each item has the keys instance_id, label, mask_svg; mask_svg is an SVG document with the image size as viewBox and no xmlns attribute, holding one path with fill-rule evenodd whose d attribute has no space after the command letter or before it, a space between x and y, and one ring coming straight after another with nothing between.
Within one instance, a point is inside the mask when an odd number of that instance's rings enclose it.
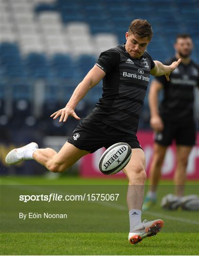
<instances>
[{"instance_id":1,"label":"whole player in black kit and white socks kicking the ball","mask_svg":"<svg viewBox=\"0 0 199 256\"><path fill-rule=\"evenodd\" d=\"M100 54L97 63L91 68L82 82L74 90L66 106L54 112L53 119L65 122L68 116L80 120L75 113L79 101L103 79L102 98L85 119L74 130L67 142L57 153L52 148L39 149L34 142L13 149L6 156L8 165L23 160L34 159L51 172L63 172L83 155L93 153L101 147L126 142L132 148L132 156L123 172L129 180L127 205L129 209L130 233L128 240L137 244L143 238L156 235L163 227L163 220L141 221L144 198L145 153L137 137L140 112L150 74L165 75L180 64L181 59L170 65L153 61L145 52L153 37L151 25L142 19L131 22L126 32L126 44L109 49Z\"/></svg>"}]
</instances>

